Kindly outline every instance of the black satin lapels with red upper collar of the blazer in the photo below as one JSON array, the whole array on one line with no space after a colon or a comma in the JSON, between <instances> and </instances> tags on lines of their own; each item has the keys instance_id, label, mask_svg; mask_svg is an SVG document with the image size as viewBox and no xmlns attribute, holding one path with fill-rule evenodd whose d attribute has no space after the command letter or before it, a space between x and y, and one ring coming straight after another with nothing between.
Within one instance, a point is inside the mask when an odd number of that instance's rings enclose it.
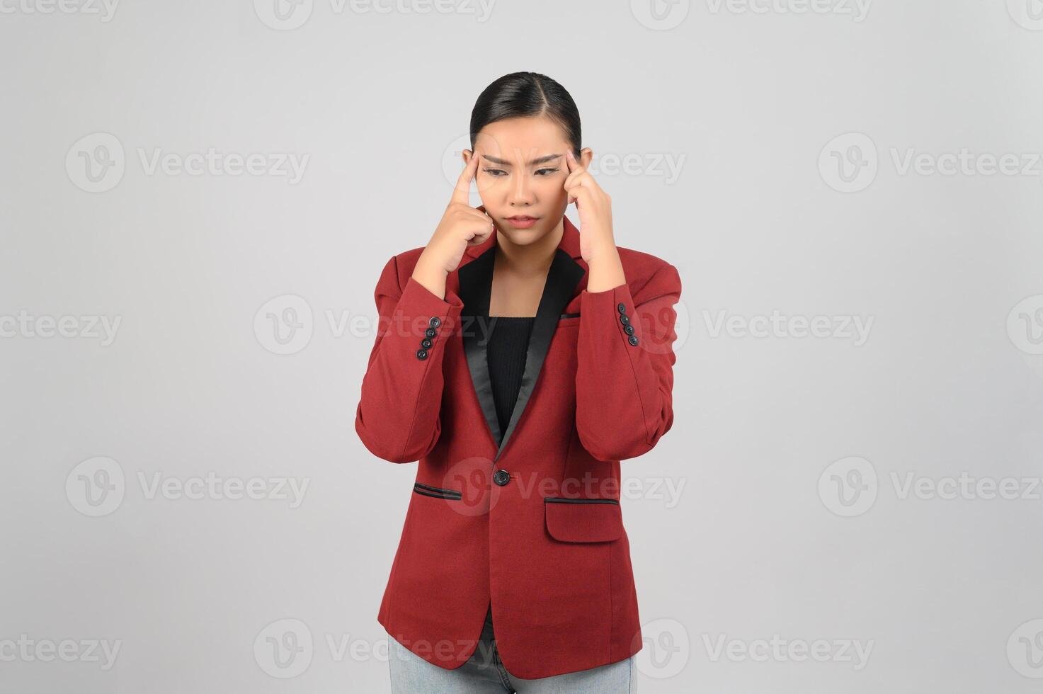
<instances>
[{"instance_id":1,"label":"black satin lapels with red upper collar of the blazer","mask_svg":"<svg viewBox=\"0 0 1043 694\"><path fill-rule=\"evenodd\" d=\"M464 353L467 358L470 380L485 415L485 423L492 435L492 440L498 446L493 460L498 460L507 447L507 441L510 440L518 420L522 418L522 414L529 404L536 386L536 380L542 372L543 360L551 346L551 338L554 337L554 332L557 330L558 319L565 306L581 290L579 283L586 273L583 266L576 262L576 259L581 257L579 231L568 221L567 217L562 217L562 219L564 219L564 232L561 236L561 242L555 249L554 259L551 261L551 268L543 284L543 293L539 300L539 308L537 308L536 317L533 320L529 351L526 353L525 370L522 375L522 387L518 389L511 421L503 432L500 431L496 408L492 400L492 383L489 379L486 353L488 336L495 328L496 320L484 317L489 314L489 297L492 291L492 264L496 247L495 233L490 234L489 239L483 243L470 246L465 253L474 260L457 270L460 283L458 293L463 302L463 308L460 311L460 327Z\"/></svg>"}]
</instances>

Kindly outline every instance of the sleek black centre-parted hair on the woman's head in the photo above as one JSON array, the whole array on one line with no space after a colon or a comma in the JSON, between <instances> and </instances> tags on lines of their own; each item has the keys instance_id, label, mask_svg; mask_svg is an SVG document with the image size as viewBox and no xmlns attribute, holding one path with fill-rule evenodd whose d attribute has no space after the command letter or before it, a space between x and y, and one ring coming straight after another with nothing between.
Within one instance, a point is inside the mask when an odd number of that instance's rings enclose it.
<instances>
[{"instance_id":1,"label":"sleek black centre-parted hair on the woman's head","mask_svg":"<svg viewBox=\"0 0 1043 694\"><path fill-rule=\"evenodd\" d=\"M498 120L548 116L565 131L573 153L580 155L580 112L565 88L538 72L512 72L478 95L470 112L470 148L479 131Z\"/></svg>"}]
</instances>

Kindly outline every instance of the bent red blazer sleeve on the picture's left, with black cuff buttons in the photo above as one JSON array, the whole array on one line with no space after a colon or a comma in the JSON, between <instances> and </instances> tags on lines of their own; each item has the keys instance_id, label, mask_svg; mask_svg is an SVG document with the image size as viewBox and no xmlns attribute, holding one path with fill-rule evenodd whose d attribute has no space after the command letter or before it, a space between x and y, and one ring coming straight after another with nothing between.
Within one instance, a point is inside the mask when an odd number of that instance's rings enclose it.
<instances>
[{"instance_id":1,"label":"bent red blazer sleeve on the picture's left, with black cuff buttons","mask_svg":"<svg viewBox=\"0 0 1043 694\"><path fill-rule=\"evenodd\" d=\"M384 266L373 295L380 322L362 379L355 430L380 458L419 460L441 433L445 339L463 302L448 288L445 298L439 298L412 277L403 287L395 257ZM431 340L430 348L422 346L425 339Z\"/></svg>"}]
</instances>

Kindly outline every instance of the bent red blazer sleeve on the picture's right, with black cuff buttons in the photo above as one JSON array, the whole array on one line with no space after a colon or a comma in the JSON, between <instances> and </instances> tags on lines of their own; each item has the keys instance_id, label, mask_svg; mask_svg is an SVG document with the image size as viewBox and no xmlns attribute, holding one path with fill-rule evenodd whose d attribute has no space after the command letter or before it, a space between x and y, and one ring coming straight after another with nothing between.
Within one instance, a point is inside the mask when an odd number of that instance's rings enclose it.
<instances>
[{"instance_id":1,"label":"bent red blazer sleeve on the picture's right, with black cuff buttons","mask_svg":"<svg viewBox=\"0 0 1043 694\"><path fill-rule=\"evenodd\" d=\"M627 284L583 290L577 345L576 427L599 460L648 453L674 423L677 268L663 264L631 295ZM631 335L621 316L629 316Z\"/></svg>"}]
</instances>

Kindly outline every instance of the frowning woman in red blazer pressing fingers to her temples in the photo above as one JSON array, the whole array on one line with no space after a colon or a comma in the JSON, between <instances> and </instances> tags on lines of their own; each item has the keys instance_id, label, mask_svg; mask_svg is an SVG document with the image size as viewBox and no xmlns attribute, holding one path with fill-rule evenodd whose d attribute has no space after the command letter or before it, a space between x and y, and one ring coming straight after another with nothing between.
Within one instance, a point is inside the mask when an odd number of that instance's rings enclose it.
<instances>
[{"instance_id":1,"label":"frowning woman in red blazer pressing fingers to her temples","mask_svg":"<svg viewBox=\"0 0 1043 694\"><path fill-rule=\"evenodd\" d=\"M673 424L680 278L615 245L558 82L496 79L470 145L431 240L377 283L356 415L374 455L419 460L378 615L392 689L632 692L620 460Z\"/></svg>"}]
</instances>

